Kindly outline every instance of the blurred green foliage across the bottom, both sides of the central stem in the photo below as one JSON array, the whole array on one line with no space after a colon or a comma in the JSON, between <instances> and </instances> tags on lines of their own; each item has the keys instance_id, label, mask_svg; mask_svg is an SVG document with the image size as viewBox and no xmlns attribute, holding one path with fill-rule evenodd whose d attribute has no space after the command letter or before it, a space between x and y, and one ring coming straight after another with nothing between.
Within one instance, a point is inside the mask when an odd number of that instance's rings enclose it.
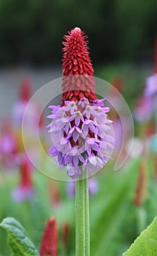
<instances>
[{"instance_id":1,"label":"blurred green foliage across the bottom, both sides of the central stem","mask_svg":"<svg viewBox=\"0 0 157 256\"><path fill-rule=\"evenodd\" d=\"M105 170L97 173L99 190L90 197L91 255L120 256L153 218L157 216L157 187L153 173L153 159L147 159L148 193L142 206L134 206L134 195L141 159L132 159L118 172L113 171L113 161ZM1 211L0 219L12 216L22 223L31 241L39 249L41 236L47 218L57 219L59 231L58 255L75 255L75 200L66 193L68 183L56 182L60 189L57 206L49 200L48 178L38 172L33 173L35 197L29 202L15 203L11 192L17 184L17 173L0 172ZM49 182L51 182L49 180ZM56 185L55 184L55 185ZM70 230L67 247L63 248L64 223ZM0 229L0 255L11 255L7 245L6 233Z\"/></svg>"}]
</instances>

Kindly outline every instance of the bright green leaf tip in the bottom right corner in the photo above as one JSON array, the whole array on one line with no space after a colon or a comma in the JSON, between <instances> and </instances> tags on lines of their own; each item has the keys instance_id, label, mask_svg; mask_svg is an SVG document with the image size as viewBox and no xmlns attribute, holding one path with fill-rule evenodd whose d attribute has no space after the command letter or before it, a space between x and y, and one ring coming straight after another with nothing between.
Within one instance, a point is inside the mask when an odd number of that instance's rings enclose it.
<instances>
[{"instance_id":1,"label":"bright green leaf tip in the bottom right corner","mask_svg":"<svg viewBox=\"0 0 157 256\"><path fill-rule=\"evenodd\" d=\"M157 217L142 231L123 256L156 256L157 255Z\"/></svg>"}]
</instances>

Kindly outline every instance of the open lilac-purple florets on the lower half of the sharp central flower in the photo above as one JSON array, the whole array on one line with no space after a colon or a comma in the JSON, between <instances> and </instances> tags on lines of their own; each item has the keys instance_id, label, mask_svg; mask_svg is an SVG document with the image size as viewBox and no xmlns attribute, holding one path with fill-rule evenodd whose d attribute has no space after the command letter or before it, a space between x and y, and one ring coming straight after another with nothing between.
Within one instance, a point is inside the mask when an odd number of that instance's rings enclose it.
<instances>
[{"instance_id":1,"label":"open lilac-purple florets on the lower half of the sharp central flower","mask_svg":"<svg viewBox=\"0 0 157 256\"><path fill-rule=\"evenodd\" d=\"M57 157L60 168L68 166L68 176L73 179L86 168L89 173L100 170L110 158L114 139L108 134L111 121L103 100L91 104L81 98L79 102L65 101L63 106L49 107L52 122L48 127L53 143L49 154Z\"/></svg>"}]
</instances>

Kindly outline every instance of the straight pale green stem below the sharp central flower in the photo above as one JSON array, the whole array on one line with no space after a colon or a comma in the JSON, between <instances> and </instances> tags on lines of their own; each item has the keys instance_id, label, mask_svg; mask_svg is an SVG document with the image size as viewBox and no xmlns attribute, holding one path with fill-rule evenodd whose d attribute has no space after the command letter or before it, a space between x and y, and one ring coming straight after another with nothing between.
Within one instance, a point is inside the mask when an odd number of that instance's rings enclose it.
<instances>
[{"instance_id":1,"label":"straight pale green stem below the sharp central flower","mask_svg":"<svg viewBox=\"0 0 157 256\"><path fill-rule=\"evenodd\" d=\"M89 256L88 178L76 181L76 256Z\"/></svg>"}]
</instances>

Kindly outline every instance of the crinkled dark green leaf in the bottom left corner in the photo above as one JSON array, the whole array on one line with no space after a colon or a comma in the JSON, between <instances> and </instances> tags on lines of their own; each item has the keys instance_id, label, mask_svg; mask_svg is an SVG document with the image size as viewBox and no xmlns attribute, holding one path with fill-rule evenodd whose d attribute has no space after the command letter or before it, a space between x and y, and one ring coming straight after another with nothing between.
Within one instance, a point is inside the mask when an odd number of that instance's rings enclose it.
<instances>
[{"instance_id":1,"label":"crinkled dark green leaf in the bottom left corner","mask_svg":"<svg viewBox=\"0 0 157 256\"><path fill-rule=\"evenodd\" d=\"M8 243L14 256L39 256L22 225L13 218L5 218L0 227L7 231Z\"/></svg>"}]
</instances>

